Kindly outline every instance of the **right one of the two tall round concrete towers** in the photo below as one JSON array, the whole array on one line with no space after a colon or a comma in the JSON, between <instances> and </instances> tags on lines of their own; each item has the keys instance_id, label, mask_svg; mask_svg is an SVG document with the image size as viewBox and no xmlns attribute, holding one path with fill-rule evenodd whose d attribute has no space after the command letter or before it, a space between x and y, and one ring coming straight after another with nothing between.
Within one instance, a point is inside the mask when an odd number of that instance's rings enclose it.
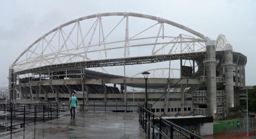
<instances>
[{"instance_id":1,"label":"right one of the two tall round concrete towers","mask_svg":"<svg viewBox=\"0 0 256 139\"><path fill-rule=\"evenodd\" d=\"M233 52L232 46L227 44L224 47L224 68L225 68L225 96L226 96L226 112L229 108L234 107L234 87L233 87Z\"/></svg>"}]
</instances>

